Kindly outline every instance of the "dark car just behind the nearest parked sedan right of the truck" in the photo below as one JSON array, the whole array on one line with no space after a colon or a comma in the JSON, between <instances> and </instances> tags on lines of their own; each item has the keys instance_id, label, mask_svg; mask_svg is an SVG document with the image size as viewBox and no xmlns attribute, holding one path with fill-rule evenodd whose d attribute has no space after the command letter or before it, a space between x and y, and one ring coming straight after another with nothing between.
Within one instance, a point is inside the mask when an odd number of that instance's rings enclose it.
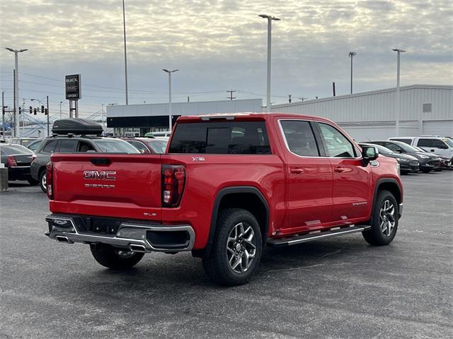
<instances>
[{"instance_id":1,"label":"dark car just behind the nearest parked sedan right of the truck","mask_svg":"<svg viewBox=\"0 0 453 339\"><path fill-rule=\"evenodd\" d=\"M374 143L375 145L382 145L389 150L393 150L395 153L408 154L416 157L419 163L420 171L428 173L432 170L440 168L440 157L431 153L420 152L417 148L414 148L407 143L401 141L368 141L368 143Z\"/></svg>"}]
</instances>

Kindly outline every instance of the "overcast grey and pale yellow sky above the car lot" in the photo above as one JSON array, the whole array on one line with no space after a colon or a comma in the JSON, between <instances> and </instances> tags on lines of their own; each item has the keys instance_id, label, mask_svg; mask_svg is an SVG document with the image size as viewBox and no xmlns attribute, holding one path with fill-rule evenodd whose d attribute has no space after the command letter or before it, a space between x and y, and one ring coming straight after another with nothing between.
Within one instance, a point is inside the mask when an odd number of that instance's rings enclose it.
<instances>
[{"instance_id":1,"label":"overcast grey and pale yellow sky above the car lot","mask_svg":"<svg viewBox=\"0 0 453 339\"><path fill-rule=\"evenodd\" d=\"M453 1L125 0L130 104L263 98L266 21L273 23L272 102L347 94L349 51L354 91L393 87L396 54L401 85L453 83ZM80 111L125 102L121 0L1 1L1 47L20 55L21 98L64 102L64 75L81 73ZM13 53L1 49L1 90L12 101ZM21 99L22 102L22 99ZM9 104L11 105L11 104ZM30 102L25 105L28 107Z\"/></svg>"}]
</instances>

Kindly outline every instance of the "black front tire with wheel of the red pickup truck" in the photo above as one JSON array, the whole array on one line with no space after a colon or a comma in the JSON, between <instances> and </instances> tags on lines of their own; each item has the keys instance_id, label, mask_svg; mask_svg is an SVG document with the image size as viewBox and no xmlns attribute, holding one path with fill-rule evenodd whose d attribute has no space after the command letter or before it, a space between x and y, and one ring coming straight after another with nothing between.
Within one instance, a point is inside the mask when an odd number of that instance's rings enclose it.
<instances>
[{"instance_id":1,"label":"black front tire with wheel of the red pickup truck","mask_svg":"<svg viewBox=\"0 0 453 339\"><path fill-rule=\"evenodd\" d=\"M386 203L393 206L393 214L385 213L385 211L382 213L382 210L386 209ZM391 227L391 222L394 222L393 227ZM382 225L385 230L382 229ZM363 237L368 244L374 246L388 245L393 241L396 230L398 230L398 203L389 191L379 191L372 210L371 229L362 232Z\"/></svg>"}]
</instances>

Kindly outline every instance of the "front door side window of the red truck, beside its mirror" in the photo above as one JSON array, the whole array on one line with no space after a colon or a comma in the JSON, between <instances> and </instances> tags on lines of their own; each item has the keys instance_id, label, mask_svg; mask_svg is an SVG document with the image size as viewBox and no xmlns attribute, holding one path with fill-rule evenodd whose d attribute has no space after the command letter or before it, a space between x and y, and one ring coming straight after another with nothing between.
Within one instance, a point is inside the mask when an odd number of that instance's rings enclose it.
<instances>
[{"instance_id":1,"label":"front door side window of the red truck, beside its mirror","mask_svg":"<svg viewBox=\"0 0 453 339\"><path fill-rule=\"evenodd\" d=\"M328 157L356 157L355 148L335 127L319 123L321 138Z\"/></svg>"}]
</instances>

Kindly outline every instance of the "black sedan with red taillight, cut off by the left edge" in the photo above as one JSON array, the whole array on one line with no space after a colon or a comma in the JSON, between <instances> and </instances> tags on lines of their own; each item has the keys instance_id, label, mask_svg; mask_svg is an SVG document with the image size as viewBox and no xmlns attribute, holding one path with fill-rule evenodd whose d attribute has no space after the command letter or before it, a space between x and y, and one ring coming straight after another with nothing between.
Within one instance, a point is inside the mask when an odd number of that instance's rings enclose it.
<instances>
[{"instance_id":1,"label":"black sedan with red taillight, cut off by the left edge","mask_svg":"<svg viewBox=\"0 0 453 339\"><path fill-rule=\"evenodd\" d=\"M32 155L23 145L0 144L1 162L8 168L8 181L26 180L31 185L38 184L30 175Z\"/></svg>"}]
</instances>

